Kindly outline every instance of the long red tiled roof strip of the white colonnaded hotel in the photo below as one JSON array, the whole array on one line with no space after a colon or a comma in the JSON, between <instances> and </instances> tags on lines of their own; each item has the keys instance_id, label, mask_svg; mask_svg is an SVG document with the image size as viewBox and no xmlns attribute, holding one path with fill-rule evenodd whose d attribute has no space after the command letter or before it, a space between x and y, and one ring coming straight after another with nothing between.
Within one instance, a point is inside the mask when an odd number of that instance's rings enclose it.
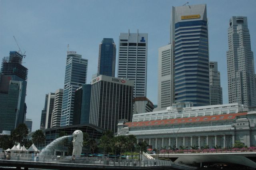
<instances>
[{"instance_id":1,"label":"long red tiled roof strip of the white colonnaded hotel","mask_svg":"<svg viewBox=\"0 0 256 170\"><path fill-rule=\"evenodd\" d=\"M230 113L223 115L210 115L210 116L198 116L198 117L186 117L177 119L164 119L156 121L142 121L142 122L127 122L125 125L128 127L144 127L152 125L171 125L181 123L196 123L196 122L211 122L211 121L226 121L236 119L236 116L246 115L247 112Z\"/></svg>"}]
</instances>

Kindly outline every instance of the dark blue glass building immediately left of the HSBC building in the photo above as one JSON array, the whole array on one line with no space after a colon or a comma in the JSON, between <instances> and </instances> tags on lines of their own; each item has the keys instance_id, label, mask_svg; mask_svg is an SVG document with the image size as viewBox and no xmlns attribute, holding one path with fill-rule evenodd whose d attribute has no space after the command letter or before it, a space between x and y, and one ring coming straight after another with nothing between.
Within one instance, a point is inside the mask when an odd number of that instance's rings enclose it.
<instances>
[{"instance_id":1,"label":"dark blue glass building immediately left of the HSBC building","mask_svg":"<svg viewBox=\"0 0 256 170\"><path fill-rule=\"evenodd\" d=\"M82 85L76 89L73 125L88 124L90 118L92 85Z\"/></svg>"}]
</instances>

